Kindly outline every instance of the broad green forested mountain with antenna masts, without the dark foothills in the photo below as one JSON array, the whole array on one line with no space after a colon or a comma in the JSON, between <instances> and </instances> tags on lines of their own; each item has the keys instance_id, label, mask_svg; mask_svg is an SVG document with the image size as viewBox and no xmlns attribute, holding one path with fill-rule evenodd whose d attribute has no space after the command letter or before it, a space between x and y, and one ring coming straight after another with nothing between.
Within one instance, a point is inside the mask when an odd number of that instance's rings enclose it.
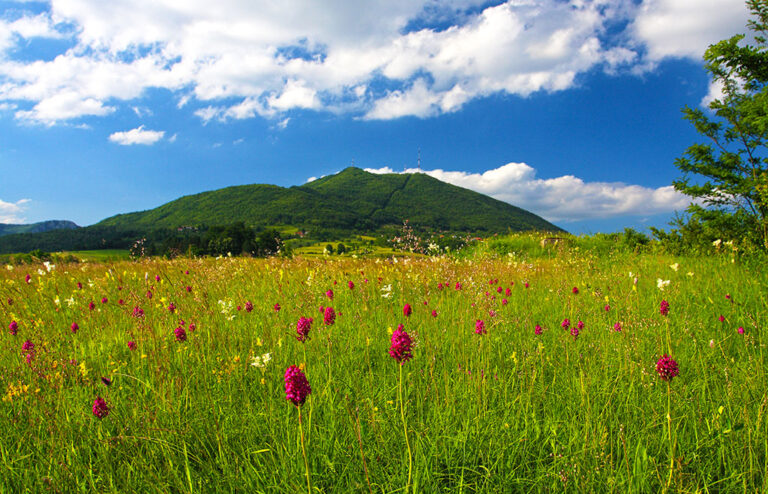
<instances>
[{"instance_id":1,"label":"broad green forested mountain with antenna masts, without the dark foothills","mask_svg":"<svg viewBox=\"0 0 768 494\"><path fill-rule=\"evenodd\" d=\"M95 226L144 230L223 225L294 225L374 231L386 225L467 232L562 231L533 213L428 175L373 174L347 168L294 187L240 185L181 197L155 209L119 214Z\"/></svg>"}]
</instances>

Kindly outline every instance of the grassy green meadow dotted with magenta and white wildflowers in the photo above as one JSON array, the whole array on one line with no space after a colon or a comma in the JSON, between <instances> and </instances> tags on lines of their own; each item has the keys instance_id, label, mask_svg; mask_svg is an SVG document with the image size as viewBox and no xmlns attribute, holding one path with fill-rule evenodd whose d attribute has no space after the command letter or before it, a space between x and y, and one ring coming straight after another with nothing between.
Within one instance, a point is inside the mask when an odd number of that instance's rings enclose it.
<instances>
[{"instance_id":1,"label":"grassy green meadow dotted with magenta and white wildflowers","mask_svg":"<svg viewBox=\"0 0 768 494\"><path fill-rule=\"evenodd\" d=\"M493 254L0 267L0 491L768 489L764 266Z\"/></svg>"}]
</instances>

